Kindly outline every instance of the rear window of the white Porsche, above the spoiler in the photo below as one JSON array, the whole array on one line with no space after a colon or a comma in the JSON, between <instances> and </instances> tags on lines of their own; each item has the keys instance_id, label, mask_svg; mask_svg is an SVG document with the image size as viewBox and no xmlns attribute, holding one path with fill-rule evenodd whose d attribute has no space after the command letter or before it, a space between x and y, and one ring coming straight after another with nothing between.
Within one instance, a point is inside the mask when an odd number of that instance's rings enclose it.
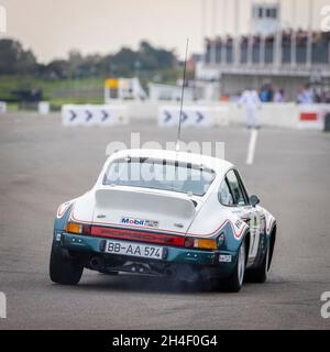
<instances>
[{"instance_id":1,"label":"rear window of the white Porsche, above the spoiler","mask_svg":"<svg viewBox=\"0 0 330 352\"><path fill-rule=\"evenodd\" d=\"M151 158L113 161L105 175L103 185L119 185L169 190L204 196L216 173L199 165Z\"/></svg>"}]
</instances>

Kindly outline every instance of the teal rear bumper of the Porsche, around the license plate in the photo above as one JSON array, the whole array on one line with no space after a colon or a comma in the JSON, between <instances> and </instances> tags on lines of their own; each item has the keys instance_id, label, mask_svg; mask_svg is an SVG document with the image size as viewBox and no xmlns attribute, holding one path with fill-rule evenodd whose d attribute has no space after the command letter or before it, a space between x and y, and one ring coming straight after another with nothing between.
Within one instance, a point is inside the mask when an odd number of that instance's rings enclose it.
<instances>
[{"instance_id":1,"label":"teal rear bumper of the Porsche, around the license plate","mask_svg":"<svg viewBox=\"0 0 330 352\"><path fill-rule=\"evenodd\" d=\"M77 235L65 232L55 232L54 242L72 252L79 252L89 256L100 255L105 258L125 258L128 261L136 262L154 262L163 264L191 264L196 266L204 266L212 268L216 276L228 276L231 274L235 261L237 254L227 251L201 251L178 246L166 246L166 256L162 260L151 260L145 257L108 254L105 252L106 241L110 239L103 239L98 237ZM145 242L134 242L141 244L147 244ZM230 261L229 261L230 260ZM213 276L213 275L212 275Z\"/></svg>"}]
</instances>

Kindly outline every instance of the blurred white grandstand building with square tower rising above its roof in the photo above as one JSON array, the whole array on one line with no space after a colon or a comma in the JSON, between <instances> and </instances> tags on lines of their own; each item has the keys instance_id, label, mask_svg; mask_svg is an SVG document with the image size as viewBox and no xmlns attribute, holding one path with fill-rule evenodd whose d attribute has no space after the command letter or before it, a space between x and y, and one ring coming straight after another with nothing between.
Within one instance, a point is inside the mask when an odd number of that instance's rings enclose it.
<instances>
[{"instance_id":1,"label":"blurred white grandstand building with square tower rising above its roof","mask_svg":"<svg viewBox=\"0 0 330 352\"><path fill-rule=\"evenodd\" d=\"M205 40L196 78L220 81L222 95L237 95L265 82L280 87L289 100L299 87L311 82L330 86L330 33L283 29L279 2L254 4L249 35L215 35ZM321 88L320 88L321 87Z\"/></svg>"}]
</instances>

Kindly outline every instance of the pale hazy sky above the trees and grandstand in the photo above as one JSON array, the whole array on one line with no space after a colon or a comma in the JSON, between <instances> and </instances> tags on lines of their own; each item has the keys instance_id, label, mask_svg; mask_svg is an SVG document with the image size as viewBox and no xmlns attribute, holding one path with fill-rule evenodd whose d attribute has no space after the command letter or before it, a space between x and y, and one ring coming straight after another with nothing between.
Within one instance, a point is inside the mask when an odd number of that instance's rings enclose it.
<instances>
[{"instance_id":1,"label":"pale hazy sky above the trees and grandstand","mask_svg":"<svg viewBox=\"0 0 330 352\"><path fill-rule=\"evenodd\" d=\"M239 32L250 26L252 2L238 0ZM282 0L283 24L306 26L308 1L312 25L319 29L320 10L330 0ZM21 41L37 59L64 58L70 50L82 54L114 53L122 46L136 48L142 40L175 50L180 57L189 37L189 53L202 51L205 35L234 31L234 0L0 0L7 12L1 37ZM296 11L293 3L296 2ZM293 15L295 13L295 16ZM205 21L202 21L205 19Z\"/></svg>"}]
</instances>

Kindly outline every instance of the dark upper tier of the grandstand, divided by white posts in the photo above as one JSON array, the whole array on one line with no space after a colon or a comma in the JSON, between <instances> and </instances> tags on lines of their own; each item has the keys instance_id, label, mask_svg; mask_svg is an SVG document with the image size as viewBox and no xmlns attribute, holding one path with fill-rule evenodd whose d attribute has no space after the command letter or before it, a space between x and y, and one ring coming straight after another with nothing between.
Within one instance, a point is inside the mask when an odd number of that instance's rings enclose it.
<instances>
[{"instance_id":1,"label":"dark upper tier of the grandstand, divided by white posts","mask_svg":"<svg viewBox=\"0 0 330 352\"><path fill-rule=\"evenodd\" d=\"M302 30L282 31L279 46L276 43L276 35L240 36L235 53L234 41L232 36L206 40L205 63L230 66L253 65L256 66L255 68L265 65L275 68L277 65L280 69L283 65L289 65L290 70L310 73L310 69L321 68L326 69L324 74L330 74L330 33L312 33L310 58L308 57L308 33ZM276 53L278 48L280 52Z\"/></svg>"}]
</instances>

